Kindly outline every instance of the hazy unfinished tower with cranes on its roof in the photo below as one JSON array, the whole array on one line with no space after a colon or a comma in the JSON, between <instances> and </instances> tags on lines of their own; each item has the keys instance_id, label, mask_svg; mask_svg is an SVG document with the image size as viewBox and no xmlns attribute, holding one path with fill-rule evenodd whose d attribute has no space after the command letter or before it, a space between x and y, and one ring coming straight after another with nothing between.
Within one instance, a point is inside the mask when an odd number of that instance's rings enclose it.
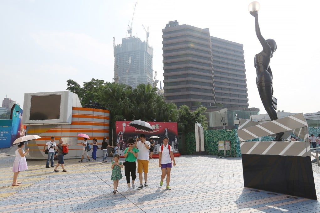
<instances>
[{"instance_id":1,"label":"hazy unfinished tower with cranes on its roof","mask_svg":"<svg viewBox=\"0 0 320 213\"><path fill-rule=\"evenodd\" d=\"M123 38L122 43L114 47L115 73L119 83L133 88L137 85L152 85L153 48L134 36Z\"/></svg>"}]
</instances>

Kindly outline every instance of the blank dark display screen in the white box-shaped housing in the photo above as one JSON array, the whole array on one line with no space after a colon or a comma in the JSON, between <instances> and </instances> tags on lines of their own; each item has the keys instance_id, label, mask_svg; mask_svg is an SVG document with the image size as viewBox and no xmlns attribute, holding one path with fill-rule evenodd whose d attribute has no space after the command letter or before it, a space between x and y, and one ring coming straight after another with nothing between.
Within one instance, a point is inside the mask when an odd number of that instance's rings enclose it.
<instances>
[{"instance_id":1,"label":"blank dark display screen in the white box-shaped housing","mask_svg":"<svg viewBox=\"0 0 320 213\"><path fill-rule=\"evenodd\" d=\"M61 95L34 95L31 97L29 120L60 119Z\"/></svg>"}]
</instances>

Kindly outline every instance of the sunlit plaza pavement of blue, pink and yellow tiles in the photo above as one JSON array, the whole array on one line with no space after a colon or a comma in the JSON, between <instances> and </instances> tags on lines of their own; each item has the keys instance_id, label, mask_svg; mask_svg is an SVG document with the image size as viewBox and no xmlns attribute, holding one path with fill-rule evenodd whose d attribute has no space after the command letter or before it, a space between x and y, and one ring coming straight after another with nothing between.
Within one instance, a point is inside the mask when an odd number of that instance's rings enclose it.
<instances>
[{"instance_id":1,"label":"sunlit plaza pavement of blue, pink and yellow tiles","mask_svg":"<svg viewBox=\"0 0 320 213\"><path fill-rule=\"evenodd\" d=\"M113 194L111 164L65 160L67 172L28 160L20 186L12 183L11 149L0 149L0 212L320 212L320 202L243 187L241 158L181 156L172 168L171 191L159 186L158 160L150 160L148 188L126 192L125 177ZM111 157L108 158L110 162ZM121 159L123 161L123 159ZM56 161L55 161L56 163ZM313 164L314 171L319 171ZM124 176L124 171L122 169ZM320 174L314 172L320 199ZM139 179L136 180L136 187Z\"/></svg>"}]
</instances>

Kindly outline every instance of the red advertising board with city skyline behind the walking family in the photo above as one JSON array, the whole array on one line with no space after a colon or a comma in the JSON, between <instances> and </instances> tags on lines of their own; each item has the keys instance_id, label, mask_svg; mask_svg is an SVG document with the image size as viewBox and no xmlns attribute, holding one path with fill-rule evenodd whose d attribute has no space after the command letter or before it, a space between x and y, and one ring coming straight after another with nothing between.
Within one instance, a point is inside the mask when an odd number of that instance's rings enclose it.
<instances>
[{"instance_id":1,"label":"red advertising board with city skyline behind the walking family","mask_svg":"<svg viewBox=\"0 0 320 213\"><path fill-rule=\"evenodd\" d=\"M178 152L178 128L177 123L174 122L148 122L153 131L144 131L130 126L131 121L116 121L116 141L114 146L118 148L118 154L123 156L124 149L127 148L127 141L129 138L134 140L139 137L140 134L145 134L146 139L151 136L158 136L160 139L154 139L154 154L158 154L159 147L163 144L164 137L169 138L169 145L172 146L172 151Z\"/></svg>"}]
</instances>

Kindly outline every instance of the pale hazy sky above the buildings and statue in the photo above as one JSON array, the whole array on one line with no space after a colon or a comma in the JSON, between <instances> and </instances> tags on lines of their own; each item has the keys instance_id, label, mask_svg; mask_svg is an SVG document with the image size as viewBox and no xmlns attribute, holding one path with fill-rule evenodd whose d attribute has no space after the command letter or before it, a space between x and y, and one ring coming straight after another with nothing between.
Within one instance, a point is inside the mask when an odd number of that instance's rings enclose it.
<instances>
[{"instance_id":1,"label":"pale hazy sky above the buildings and statue","mask_svg":"<svg viewBox=\"0 0 320 213\"><path fill-rule=\"evenodd\" d=\"M262 47L248 11L251 2L1 0L0 99L11 98L23 106L24 93L65 91L69 79L81 86L92 78L111 82L113 37L120 44L129 36L127 26L137 3L132 36L146 40L142 25L149 27L153 70L159 81L163 81L162 29L168 21L209 28L214 37L244 45L249 107L266 113L255 83L253 58ZM319 14L312 8L319 4L288 0L259 3L261 34L277 43L270 67L278 110L319 111Z\"/></svg>"}]
</instances>

